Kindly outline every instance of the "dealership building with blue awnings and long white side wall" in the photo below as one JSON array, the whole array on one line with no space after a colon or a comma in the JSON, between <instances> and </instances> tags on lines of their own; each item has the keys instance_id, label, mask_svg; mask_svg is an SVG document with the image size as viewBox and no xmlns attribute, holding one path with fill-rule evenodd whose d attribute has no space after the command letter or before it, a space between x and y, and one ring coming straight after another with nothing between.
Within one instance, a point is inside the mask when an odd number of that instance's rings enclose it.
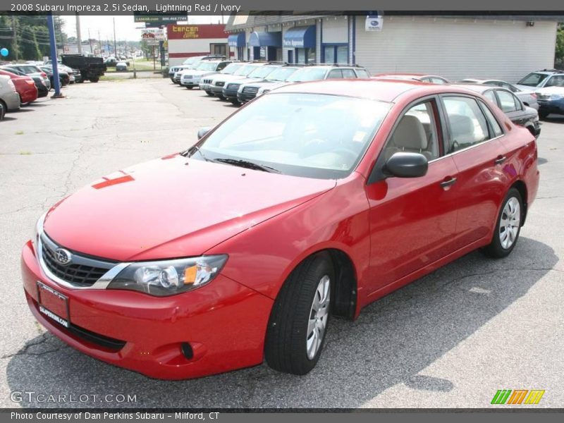
<instances>
[{"instance_id":1,"label":"dealership building with blue awnings and long white side wall","mask_svg":"<svg viewBox=\"0 0 564 423\"><path fill-rule=\"evenodd\" d=\"M233 15L231 57L515 82L553 68L562 16Z\"/></svg>"}]
</instances>

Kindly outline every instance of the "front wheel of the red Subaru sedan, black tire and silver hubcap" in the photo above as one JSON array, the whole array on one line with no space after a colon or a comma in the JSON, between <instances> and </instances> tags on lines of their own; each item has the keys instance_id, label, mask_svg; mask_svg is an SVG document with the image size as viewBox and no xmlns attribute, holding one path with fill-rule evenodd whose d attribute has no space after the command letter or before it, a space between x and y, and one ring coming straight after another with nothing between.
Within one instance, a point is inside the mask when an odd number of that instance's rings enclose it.
<instances>
[{"instance_id":1,"label":"front wheel of the red Subaru sedan, black tire and silver hubcap","mask_svg":"<svg viewBox=\"0 0 564 423\"><path fill-rule=\"evenodd\" d=\"M320 253L296 267L274 302L264 356L279 372L307 374L323 350L331 311L335 272Z\"/></svg>"}]
</instances>

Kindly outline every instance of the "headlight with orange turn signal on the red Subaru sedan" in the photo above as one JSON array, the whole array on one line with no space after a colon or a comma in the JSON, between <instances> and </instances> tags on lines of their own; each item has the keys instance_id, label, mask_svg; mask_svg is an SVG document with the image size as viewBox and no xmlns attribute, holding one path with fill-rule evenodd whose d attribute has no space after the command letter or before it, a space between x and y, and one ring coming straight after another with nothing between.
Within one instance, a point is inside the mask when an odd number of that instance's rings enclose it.
<instances>
[{"instance_id":1,"label":"headlight with orange turn signal on the red Subaru sedan","mask_svg":"<svg viewBox=\"0 0 564 423\"><path fill-rule=\"evenodd\" d=\"M132 263L107 289L136 290L157 297L184 293L211 282L226 262L227 255L213 255Z\"/></svg>"}]
</instances>

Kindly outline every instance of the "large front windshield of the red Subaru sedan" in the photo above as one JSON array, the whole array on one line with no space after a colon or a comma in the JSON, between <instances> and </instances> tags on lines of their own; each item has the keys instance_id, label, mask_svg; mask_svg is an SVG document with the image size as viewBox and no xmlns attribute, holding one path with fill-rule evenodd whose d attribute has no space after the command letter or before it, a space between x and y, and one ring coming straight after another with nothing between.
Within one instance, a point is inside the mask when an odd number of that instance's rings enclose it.
<instances>
[{"instance_id":1,"label":"large front windshield of the red Subaru sedan","mask_svg":"<svg viewBox=\"0 0 564 423\"><path fill-rule=\"evenodd\" d=\"M257 98L217 127L191 157L309 178L353 171L391 104L327 94Z\"/></svg>"}]
</instances>

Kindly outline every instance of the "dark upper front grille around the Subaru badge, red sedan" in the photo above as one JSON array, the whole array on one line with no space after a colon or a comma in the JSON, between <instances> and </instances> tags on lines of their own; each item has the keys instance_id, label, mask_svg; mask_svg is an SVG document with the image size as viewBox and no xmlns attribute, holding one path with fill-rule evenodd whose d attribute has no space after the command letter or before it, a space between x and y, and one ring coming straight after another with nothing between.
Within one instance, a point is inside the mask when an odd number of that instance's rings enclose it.
<instances>
[{"instance_id":1,"label":"dark upper front grille around the Subaru badge, red sedan","mask_svg":"<svg viewBox=\"0 0 564 423\"><path fill-rule=\"evenodd\" d=\"M81 255L73 254L70 264L61 264L55 258L59 248L46 235L42 235L42 259L47 269L54 276L74 286L92 286L99 278L115 266L112 262L101 262Z\"/></svg>"}]
</instances>

